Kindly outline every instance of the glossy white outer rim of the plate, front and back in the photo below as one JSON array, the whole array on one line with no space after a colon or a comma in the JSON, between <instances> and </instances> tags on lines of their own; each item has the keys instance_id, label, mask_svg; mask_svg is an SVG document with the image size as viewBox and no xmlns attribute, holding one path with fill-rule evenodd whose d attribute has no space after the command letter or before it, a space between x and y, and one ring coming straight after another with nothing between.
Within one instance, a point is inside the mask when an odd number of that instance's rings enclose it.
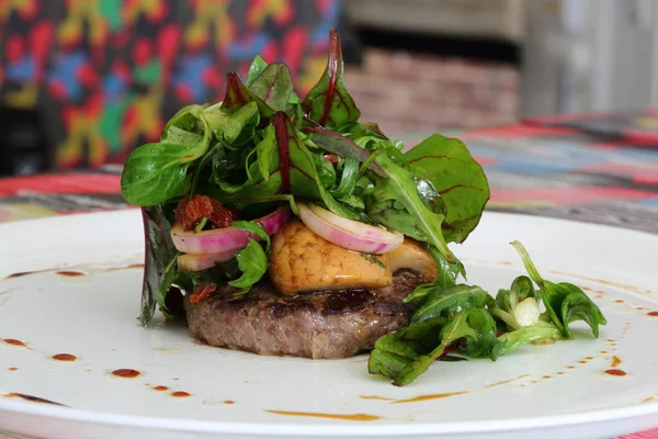
<instances>
[{"instance_id":1,"label":"glossy white outer rim of the plate, front and back","mask_svg":"<svg viewBox=\"0 0 658 439\"><path fill-rule=\"evenodd\" d=\"M0 224L0 234L7 230L20 232L23 228L35 229L35 225L53 225L53 223L67 224L86 218L115 217L116 219L133 221L141 215L139 209L124 209L113 211L75 213L46 218L24 219L11 223ZM504 218L503 221L513 221L523 218L524 221L541 221L544 223L563 224L569 227L598 229L600 233L621 233L634 234L637 236L651 237L658 239L657 234L644 230L635 230L624 227L617 227L606 224L588 223L568 218L557 218L551 216L486 211L483 217ZM47 229L47 227L36 227L36 229ZM64 228L65 230L67 228ZM141 234L141 229L139 230ZM464 244L467 245L467 240ZM458 246L461 246L458 245ZM588 425L601 421L619 421L625 419L639 418L647 415L658 415L658 402L636 403L614 408L591 409L576 413L566 413L561 415L547 416L525 416L504 419L469 420L469 421L399 421L399 423L340 423L318 420L313 424L295 424L287 421L279 423L245 423L227 420L201 420L185 418L167 418L157 416L126 415L111 412L93 412L84 408L48 406L45 404L34 404L24 402L2 401L0 398L0 412L12 413L25 416L41 416L65 421L90 423L104 425L109 427L132 427L141 429L178 430L184 432L197 434L241 434L241 435L269 435L269 436L288 436L288 437L321 437L321 436L348 436L358 435L363 437L373 436L395 436L404 437L409 435L446 435L446 434L483 434L483 432L502 432L502 431L524 431L551 427L568 427L575 425ZM658 424L658 421L657 421Z\"/></svg>"}]
</instances>

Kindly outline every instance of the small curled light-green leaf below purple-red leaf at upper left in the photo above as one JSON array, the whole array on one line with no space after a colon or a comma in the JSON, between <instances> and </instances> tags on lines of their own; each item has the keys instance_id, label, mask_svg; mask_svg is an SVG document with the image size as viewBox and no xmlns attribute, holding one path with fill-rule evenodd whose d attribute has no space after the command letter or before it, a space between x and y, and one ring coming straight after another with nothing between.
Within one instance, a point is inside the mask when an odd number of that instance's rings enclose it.
<instances>
[{"instance_id":1,"label":"small curled light-green leaf below purple-red leaf at upper left","mask_svg":"<svg viewBox=\"0 0 658 439\"><path fill-rule=\"evenodd\" d=\"M207 122L217 139L235 146L251 140L260 122L256 102L249 102L231 114L224 113L217 105L213 105L205 109L201 116Z\"/></svg>"}]
</instances>

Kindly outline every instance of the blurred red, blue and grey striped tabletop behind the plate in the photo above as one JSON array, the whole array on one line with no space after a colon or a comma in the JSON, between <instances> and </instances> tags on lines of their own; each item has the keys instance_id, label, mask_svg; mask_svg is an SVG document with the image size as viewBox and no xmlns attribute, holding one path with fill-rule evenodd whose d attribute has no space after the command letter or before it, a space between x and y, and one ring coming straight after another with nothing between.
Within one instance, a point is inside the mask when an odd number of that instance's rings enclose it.
<instances>
[{"instance_id":1,"label":"blurred red, blue and grey striped tabletop behind the plate","mask_svg":"<svg viewBox=\"0 0 658 439\"><path fill-rule=\"evenodd\" d=\"M657 110L533 119L458 137L489 178L489 211L658 234ZM405 137L408 145L420 139ZM0 222L132 209L120 194L120 172L0 179ZM658 438L658 429L624 437L640 438Z\"/></svg>"}]
</instances>

